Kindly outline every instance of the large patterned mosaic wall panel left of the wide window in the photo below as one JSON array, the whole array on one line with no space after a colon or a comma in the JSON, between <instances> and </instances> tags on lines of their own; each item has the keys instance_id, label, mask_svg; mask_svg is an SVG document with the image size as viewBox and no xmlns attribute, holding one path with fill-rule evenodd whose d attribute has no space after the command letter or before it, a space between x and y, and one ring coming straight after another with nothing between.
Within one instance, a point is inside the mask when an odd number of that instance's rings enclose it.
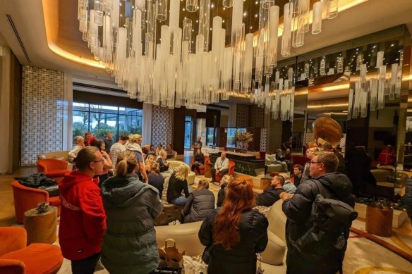
<instances>
[{"instance_id":1,"label":"large patterned mosaic wall panel left of the wide window","mask_svg":"<svg viewBox=\"0 0 412 274\"><path fill-rule=\"evenodd\" d=\"M23 66L21 165L63 148L63 73Z\"/></svg>"}]
</instances>

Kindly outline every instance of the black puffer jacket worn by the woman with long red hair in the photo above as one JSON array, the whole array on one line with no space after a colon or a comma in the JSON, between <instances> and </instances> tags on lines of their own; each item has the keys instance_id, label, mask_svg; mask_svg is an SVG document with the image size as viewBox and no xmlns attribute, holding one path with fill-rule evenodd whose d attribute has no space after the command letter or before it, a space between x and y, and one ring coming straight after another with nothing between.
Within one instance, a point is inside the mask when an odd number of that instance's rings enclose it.
<instances>
[{"instance_id":1,"label":"black puffer jacket worn by the woman with long red hair","mask_svg":"<svg viewBox=\"0 0 412 274\"><path fill-rule=\"evenodd\" d=\"M212 229L214 219L221 208L216 208L207 216L199 230L200 242L210 246L213 242ZM255 274L256 254L266 249L267 218L257 211L246 211L241 216L241 241L232 249L224 250L217 245L210 253L209 274Z\"/></svg>"}]
</instances>

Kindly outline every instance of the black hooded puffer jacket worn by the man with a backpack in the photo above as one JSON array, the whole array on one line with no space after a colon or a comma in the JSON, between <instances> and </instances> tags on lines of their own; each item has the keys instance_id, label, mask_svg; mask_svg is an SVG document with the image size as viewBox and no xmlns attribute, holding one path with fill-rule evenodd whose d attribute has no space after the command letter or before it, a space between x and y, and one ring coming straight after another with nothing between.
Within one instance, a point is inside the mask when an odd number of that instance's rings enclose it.
<instances>
[{"instance_id":1,"label":"black hooded puffer jacket worn by the man with a backpack","mask_svg":"<svg viewBox=\"0 0 412 274\"><path fill-rule=\"evenodd\" d=\"M314 182L315 180L321 182L327 189L327 192L329 192L327 198L339 199L349 204L349 206L355 206L351 195L351 181L344 174L328 173L318 178L305 180L305 183L299 185L293 197L284 201L282 205L282 209L288 218L286 221L286 244L288 245L289 259L293 258L293 261L300 260L299 262L301 262L288 265L290 273L337 273L346 250L345 244L343 249L331 252L325 258L314 258L311 254L301 254L298 249L291 245L291 242L301 237L310 228L307 221L310 217L313 201L316 195L320 194L320 190ZM349 229L345 231L344 236L346 239L349 237ZM298 270L295 270L295 268L298 268Z\"/></svg>"}]
</instances>

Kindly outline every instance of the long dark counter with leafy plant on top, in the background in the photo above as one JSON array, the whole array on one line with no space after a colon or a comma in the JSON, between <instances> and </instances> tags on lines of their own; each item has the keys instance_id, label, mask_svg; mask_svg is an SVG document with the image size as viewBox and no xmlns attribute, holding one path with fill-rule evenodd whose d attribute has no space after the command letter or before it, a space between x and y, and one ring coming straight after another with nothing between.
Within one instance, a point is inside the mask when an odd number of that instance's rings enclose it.
<instances>
[{"instance_id":1,"label":"long dark counter with leafy plant on top, in the background","mask_svg":"<svg viewBox=\"0 0 412 274\"><path fill-rule=\"evenodd\" d=\"M214 165L216 159L220 157L220 152L210 153L209 156L212 165ZM226 151L226 158L236 163L235 171L238 173L256 176L257 173L265 170L265 159L257 159L256 156L250 154Z\"/></svg>"}]
</instances>

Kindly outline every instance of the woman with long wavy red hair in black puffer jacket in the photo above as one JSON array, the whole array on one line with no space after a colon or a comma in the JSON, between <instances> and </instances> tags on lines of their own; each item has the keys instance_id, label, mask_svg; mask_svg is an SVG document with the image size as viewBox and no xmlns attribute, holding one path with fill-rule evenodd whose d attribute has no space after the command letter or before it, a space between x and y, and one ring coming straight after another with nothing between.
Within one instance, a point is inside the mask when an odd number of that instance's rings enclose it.
<instances>
[{"instance_id":1,"label":"woman with long wavy red hair in black puffer jacket","mask_svg":"<svg viewBox=\"0 0 412 274\"><path fill-rule=\"evenodd\" d=\"M253 185L234 181L226 188L222 208L202 223L199 239L210 254L207 273L256 273L256 253L267 245L267 218L252 210Z\"/></svg>"}]
</instances>

